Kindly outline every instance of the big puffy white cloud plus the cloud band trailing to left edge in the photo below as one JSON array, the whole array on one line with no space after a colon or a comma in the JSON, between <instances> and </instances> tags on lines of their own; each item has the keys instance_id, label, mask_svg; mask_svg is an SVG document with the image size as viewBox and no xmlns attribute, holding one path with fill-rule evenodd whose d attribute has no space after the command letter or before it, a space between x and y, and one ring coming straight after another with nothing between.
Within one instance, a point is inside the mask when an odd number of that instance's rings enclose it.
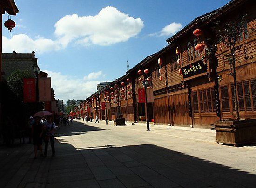
<instances>
[{"instance_id":1,"label":"big puffy white cloud plus the cloud band trailing to left edge","mask_svg":"<svg viewBox=\"0 0 256 188\"><path fill-rule=\"evenodd\" d=\"M3 37L3 52L11 53L15 50L17 53L44 53L66 48L71 41L76 45L111 45L135 37L144 24L140 18L129 17L108 6L95 16L66 15L54 26L55 40L33 39L25 34L13 35L11 39Z\"/></svg>"}]
</instances>

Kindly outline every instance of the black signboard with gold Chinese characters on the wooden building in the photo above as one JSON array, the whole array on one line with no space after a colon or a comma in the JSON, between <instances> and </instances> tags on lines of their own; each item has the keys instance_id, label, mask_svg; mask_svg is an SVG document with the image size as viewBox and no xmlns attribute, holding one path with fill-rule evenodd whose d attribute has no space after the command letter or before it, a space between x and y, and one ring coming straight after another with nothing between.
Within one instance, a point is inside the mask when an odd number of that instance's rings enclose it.
<instances>
[{"instance_id":1,"label":"black signboard with gold Chinese characters on the wooden building","mask_svg":"<svg viewBox=\"0 0 256 188\"><path fill-rule=\"evenodd\" d=\"M203 64L202 60L195 63L189 64L185 67L182 67L182 75L184 78L190 76L198 75L207 71L207 65Z\"/></svg>"}]
</instances>

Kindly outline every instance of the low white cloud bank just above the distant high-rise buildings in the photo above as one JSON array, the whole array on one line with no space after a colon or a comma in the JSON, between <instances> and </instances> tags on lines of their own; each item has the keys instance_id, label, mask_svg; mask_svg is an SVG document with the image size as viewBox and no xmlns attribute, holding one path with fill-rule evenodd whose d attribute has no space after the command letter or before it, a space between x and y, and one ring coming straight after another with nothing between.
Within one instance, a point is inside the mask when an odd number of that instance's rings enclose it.
<instances>
[{"instance_id":1,"label":"low white cloud bank just above the distant high-rise buildings","mask_svg":"<svg viewBox=\"0 0 256 188\"><path fill-rule=\"evenodd\" d=\"M51 87L54 89L55 98L62 99L64 102L68 99L85 100L88 96L96 92L98 83L105 82L96 80L100 75L90 77L91 79L88 81L84 79L74 79L72 76L62 75L60 72L43 71L48 73L48 77L51 77ZM90 73L89 75L95 74ZM89 75L87 77L89 77Z\"/></svg>"}]
</instances>

